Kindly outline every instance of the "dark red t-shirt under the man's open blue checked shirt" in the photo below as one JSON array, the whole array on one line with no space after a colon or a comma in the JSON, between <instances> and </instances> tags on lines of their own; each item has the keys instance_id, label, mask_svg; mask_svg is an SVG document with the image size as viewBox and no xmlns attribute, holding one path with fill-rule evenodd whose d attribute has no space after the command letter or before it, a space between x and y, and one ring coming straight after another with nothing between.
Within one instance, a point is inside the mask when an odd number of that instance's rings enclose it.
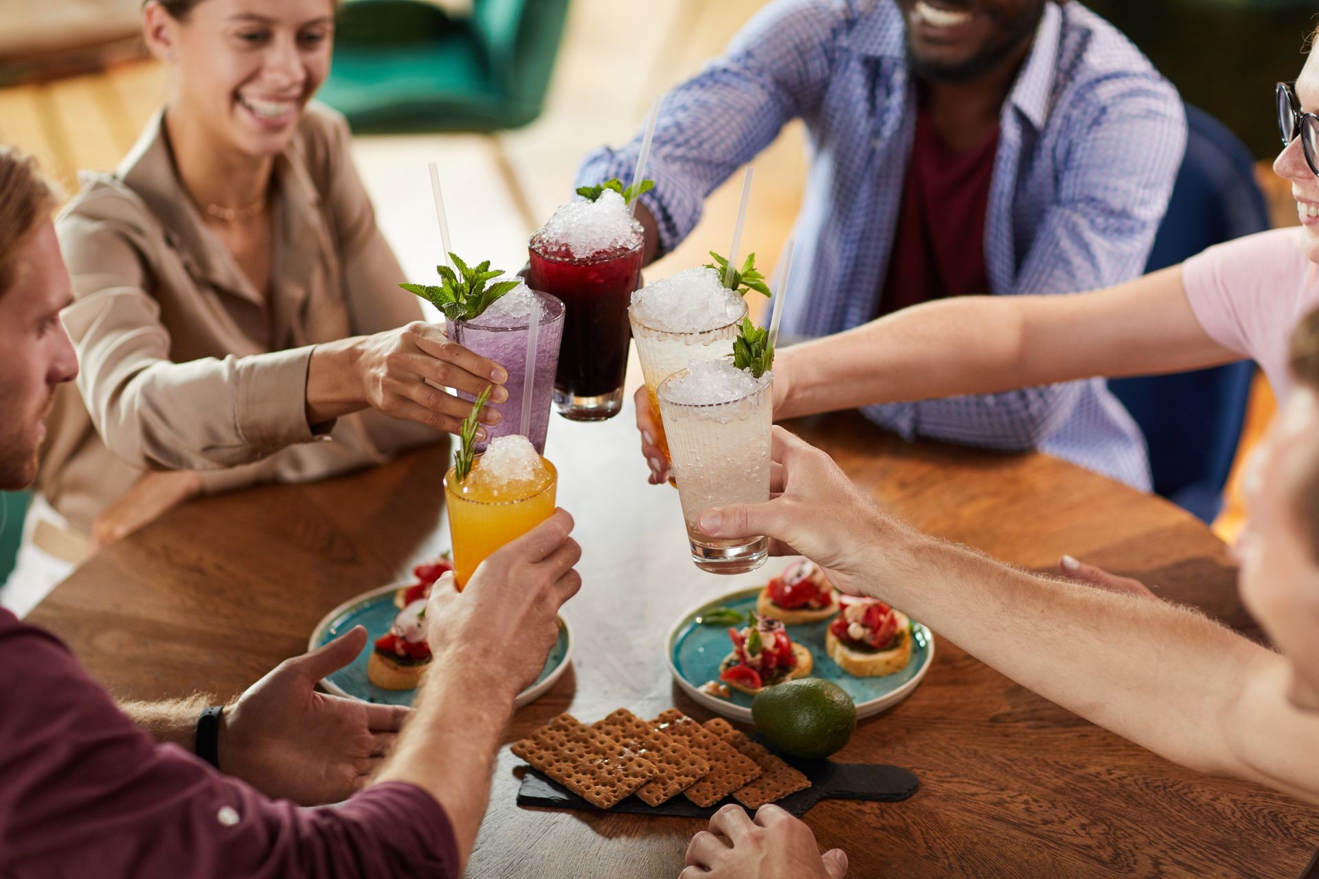
<instances>
[{"instance_id":1,"label":"dark red t-shirt under the man's open blue checked shirt","mask_svg":"<svg viewBox=\"0 0 1319 879\"><path fill-rule=\"evenodd\" d=\"M880 315L930 299L989 293L985 211L997 152L997 128L973 149L955 153L925 107L917 109Z\"/></svg>"}]
</instances>

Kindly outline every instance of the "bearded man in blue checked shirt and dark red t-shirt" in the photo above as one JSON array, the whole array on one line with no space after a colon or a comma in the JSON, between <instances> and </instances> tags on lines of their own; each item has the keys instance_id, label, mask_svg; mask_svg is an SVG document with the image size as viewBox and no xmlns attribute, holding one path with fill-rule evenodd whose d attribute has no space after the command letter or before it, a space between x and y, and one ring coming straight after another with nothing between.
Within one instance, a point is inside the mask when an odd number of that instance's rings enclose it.
<instances>
[{"instance_id":1,"label":"bearded man in blue checked shirt and dark red t-shirt","mask_svg":"<svg viewBox=\"0 0 1319 879\"><path fill-rule=\"evenodd\" d=\"M665 96L637 211L648 260L794 119L811 167L787 337L942 297L1130 279L1186 146L1173 86L1074 0L776 0ZM638 150L640 136L596 150L578 183L629 179ZM1100 378L864 411L907 439L1038 448L1150 488L1140 428Z\"/></svg>"}]
</instances>

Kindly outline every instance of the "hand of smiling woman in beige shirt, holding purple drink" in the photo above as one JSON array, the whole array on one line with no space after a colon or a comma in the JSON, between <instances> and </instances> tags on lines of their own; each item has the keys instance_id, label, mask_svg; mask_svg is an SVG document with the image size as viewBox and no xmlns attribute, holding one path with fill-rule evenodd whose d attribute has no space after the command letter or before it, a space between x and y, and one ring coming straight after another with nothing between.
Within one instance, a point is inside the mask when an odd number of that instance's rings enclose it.
<instances>
[{"instance_id":1,"label":"hand of smiling woman in beige shirt, holding purple drink","mask_svg":"<svg viewBox=\"0 0 1319 879\"><path fill-rule=\"evenodd\" d=\"M508 399L503 387L508 372L450 341L445 331L421 320L373 336L357 336L317 345L307 374L307 423L319 424L340 415L372 407L385 415L409 419L448 434L458 434L472 411L468 401L445 387L474 397L493 385L492 403ZM481 423L496 424L493 409L481 412ZM477 431L477 439L484 431Z\"/></svg>"}]
</instances>

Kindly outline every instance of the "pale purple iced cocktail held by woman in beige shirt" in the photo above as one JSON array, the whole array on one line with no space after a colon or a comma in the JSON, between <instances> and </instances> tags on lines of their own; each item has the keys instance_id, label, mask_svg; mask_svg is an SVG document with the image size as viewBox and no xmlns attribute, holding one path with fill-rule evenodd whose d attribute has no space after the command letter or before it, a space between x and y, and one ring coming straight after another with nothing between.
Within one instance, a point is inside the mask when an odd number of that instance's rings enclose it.
<instances>
[{"instance_id":1,"label":"pale purple iced cocktail held by woman in beige shirt","mask_svg":"<svg viewBox=\"0 0 1319 879\"><path fill-rule=\"evenodd\" d=\"M495 300L471 320L451 320L451 337L468 351L488 357L505 370L508 399L491 403L500 412L500 422L487 427L487 441L476 443L484 451L496 436L517 434L521 426L522 397L526 390L526 356L532 337L532 315L537 316L536 364L532 373L532 410L528 439L537 452L545 451L545 435L550 423L550 399L554 395L554 372L563 339L563 303L554 297L532 290L520 283ZM460 394L475 399L472 394Z\"/></svg>"}]
</instances>

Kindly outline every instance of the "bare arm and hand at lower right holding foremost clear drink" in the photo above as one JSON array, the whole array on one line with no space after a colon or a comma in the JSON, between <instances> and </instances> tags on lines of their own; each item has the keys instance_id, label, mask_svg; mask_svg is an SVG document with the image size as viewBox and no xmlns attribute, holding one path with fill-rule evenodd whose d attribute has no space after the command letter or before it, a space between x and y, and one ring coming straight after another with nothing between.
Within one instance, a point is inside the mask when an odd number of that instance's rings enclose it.
<instances>
[{"instance_id":1,"label":"bare arm and hand at lower right holding foremost clear drink","mask_svg":"<svg viewBox=\"0 0 1319 879\"><path fill-rule=\"evenodd\" d=\"M712 536L765 534L851 594L892 602L1022 687L1170 760L1319 803L1319 716L1281 656L1199 613L1026 573L885 515L832 460L774 428L783 492L707 510Z\"/></svg>"}]
</instances>

